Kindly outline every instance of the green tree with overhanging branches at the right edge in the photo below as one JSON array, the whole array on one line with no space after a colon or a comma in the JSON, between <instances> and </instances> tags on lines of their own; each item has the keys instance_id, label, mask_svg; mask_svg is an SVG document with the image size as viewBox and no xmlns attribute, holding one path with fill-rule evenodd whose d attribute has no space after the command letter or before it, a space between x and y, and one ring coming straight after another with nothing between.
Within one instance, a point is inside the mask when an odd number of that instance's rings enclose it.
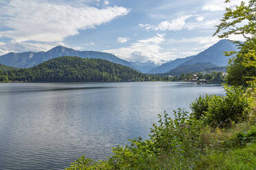
<instances>
[{"instance_id":1,"label":"green tree with overhanging branches at the right edge","mask_svg":"<svg viewBox=\"0 0 256 170\"><path fill-rule=\"evenodd\" d=\"M230 0L226 0L230 3ZM226 12L217 25L213 36L228 38L231 34L241 34L245 42L234 41L240 51L226 52L227 56L237 53L227 67L226 82L231 85L254 85L256 82L256 0L242 3L235 8L226 8ZM244 24L245 23L245 24Z\"/></svg>"}]
</instances>

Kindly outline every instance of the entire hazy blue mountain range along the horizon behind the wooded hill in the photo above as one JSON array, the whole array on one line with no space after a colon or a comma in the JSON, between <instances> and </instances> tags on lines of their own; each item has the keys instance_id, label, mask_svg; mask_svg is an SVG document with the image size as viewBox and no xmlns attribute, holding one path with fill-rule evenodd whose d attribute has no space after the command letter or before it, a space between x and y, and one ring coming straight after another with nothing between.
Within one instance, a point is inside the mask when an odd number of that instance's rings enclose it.
<instances>
[{"instance_id":1,"label":"entire hazy blue mountain range along the horizon behind the wooded hill","mask_svg":"<svg viewBox=\"0 0 256 170\"><path fill-rule=\"evenodd\" d=\"M17 68L29 68L47 60L58 58L61 56L78 56L81 58L97 58L107 60L109 62L114 62L123 66L129 66L131 69L135 69L142 73L159 74L168 73L169 71L175 72L175 68L178 68L179 66L190 66L193 64L199 66L200 64L198 63L211 63L215 66L226 66L228 64L229 58L231 58L232 56L224 56L224 51L236 50L237 47L230 40L220 40L215 45L209 47L201 53L198 53L195 56L178 58L176 60L169 61L158 66L151 61L128 62L126 60L118 58L117 56L114 56L111 53L103 53L98 51L78 51L63 46L57 46L53 49L50 49L49 51L7 53L3 56L0 56L0 64ZM189 68L194 67L192 66Z\"/></svg>"}]
</instances>

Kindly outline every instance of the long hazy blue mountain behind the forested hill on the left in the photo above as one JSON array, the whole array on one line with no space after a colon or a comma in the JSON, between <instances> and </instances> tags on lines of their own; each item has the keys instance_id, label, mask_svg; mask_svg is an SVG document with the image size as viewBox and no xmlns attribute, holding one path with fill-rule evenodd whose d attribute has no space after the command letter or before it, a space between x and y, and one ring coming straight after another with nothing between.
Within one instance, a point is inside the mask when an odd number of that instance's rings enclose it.
<instances>
[{"instance_id":1,"label":"long hazy blue mountain behind the forested hill on the left","mask_svg":"<svg viewBox=\"0 0 256 170\"><path fill-rule=\"evenodd\" d=\"M99 58L108 60L116 64L122 64L123 66L131 66L131 63L126 60L122 60L111 53L103 53L98 51L77 51L67 47L57 46L49 51L41 52L24 52L24 53L7 53L6 55L0 56L0 63L7 66L14 66L19 68L28 68L36 66L42 62L57 58L60 56L78 56L81 58Z\"/></svg>"}]
</instances>

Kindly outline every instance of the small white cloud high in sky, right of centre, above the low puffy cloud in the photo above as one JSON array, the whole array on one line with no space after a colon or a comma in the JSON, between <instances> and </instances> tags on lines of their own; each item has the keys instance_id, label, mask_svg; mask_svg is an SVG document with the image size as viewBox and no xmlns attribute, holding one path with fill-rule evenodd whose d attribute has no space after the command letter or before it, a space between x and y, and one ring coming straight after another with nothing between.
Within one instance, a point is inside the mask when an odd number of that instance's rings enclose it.
<instances>
[{"instance_id":1,"label":"small white cloud high in sky, right of centre, above the low puffy cloud","mask_svg":"<svg viewBox=\"0 0 256 170\"><path fill-rule=\"evenodd\" d=\"M179 31L186 26L185 21L190 17L191 15L179 16L178 19L174 19L172 21L163 21L158 25L158 27L155 27L154 29L161 31Z\"/></svg>"}]
</instances>

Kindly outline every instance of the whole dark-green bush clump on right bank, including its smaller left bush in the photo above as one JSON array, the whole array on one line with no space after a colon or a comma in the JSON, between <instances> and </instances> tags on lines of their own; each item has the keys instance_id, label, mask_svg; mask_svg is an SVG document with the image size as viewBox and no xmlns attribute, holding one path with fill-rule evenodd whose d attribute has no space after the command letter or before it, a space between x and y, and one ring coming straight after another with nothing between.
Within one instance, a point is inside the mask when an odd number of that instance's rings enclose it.
<instances>
[{"instance_id":1,"label":"whole dark-green bush clump on right bank, including its smaller left bush","mask_svg":"<svg viewBox=\"0 0 256 170\"><path fill-rule=\"evenodd\" d=\"M191 104L192 117L202 119L211 127L228 127L248 119L251 99L242 87L225 86L225 96L200 97Z\"/></svg>"}]
</instances>

